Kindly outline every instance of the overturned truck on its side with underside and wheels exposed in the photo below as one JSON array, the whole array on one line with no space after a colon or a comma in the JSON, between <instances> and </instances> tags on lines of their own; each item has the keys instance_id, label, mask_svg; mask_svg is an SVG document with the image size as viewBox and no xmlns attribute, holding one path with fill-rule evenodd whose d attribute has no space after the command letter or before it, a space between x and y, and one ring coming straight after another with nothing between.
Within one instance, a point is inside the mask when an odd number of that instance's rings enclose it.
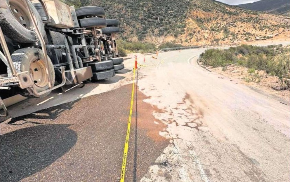
<instances>
[{"instance_id":1,"label":"overturned truck on its side with underside and wheels exposed","mask_svg":"<svg viewBox=\"0 0 290 182\"><path fill-rule=\"evenodd\" d=\"M11 94L45 97L64 85L111 78L124 69L119 21L97 6L59 0L0 1L0 105Z\"/></svg>"}]
</instances>

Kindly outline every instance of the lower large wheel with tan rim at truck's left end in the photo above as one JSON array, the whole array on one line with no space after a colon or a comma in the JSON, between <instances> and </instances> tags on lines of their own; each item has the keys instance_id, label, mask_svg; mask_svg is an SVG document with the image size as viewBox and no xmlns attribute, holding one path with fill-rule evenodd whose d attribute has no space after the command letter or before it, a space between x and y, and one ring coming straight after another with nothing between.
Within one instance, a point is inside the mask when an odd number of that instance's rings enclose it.
<instances>
[{"instance_id":1,"label":"lower large wheel with tan rim at truck's left end","mask_svg":"<svg viewBox=\"0 0 290 182\"><path fill-rule=\"evenodd\" d=\"M38 60L37 56L38 53L40 60ZM18 49L11 55L11 58L17 72L29 71L29 73L32 74L34 81L33 87L38 93L49 89L48 77L46 75L45 70L44 55L41 49L38 48ZM48 57L48 67L50 70L49 74L52 80L52 85L54 85L55 72L53 64L49 57ZM8 69L8 76L12 76L10 69ZM23 92L20 92L20 95L24 97L37 97L36 95L34 95L31 88L27 88L22 91ZM41 95L40 97L46 97L49 94L50 92Z\"/></svg>"}]
</instances>

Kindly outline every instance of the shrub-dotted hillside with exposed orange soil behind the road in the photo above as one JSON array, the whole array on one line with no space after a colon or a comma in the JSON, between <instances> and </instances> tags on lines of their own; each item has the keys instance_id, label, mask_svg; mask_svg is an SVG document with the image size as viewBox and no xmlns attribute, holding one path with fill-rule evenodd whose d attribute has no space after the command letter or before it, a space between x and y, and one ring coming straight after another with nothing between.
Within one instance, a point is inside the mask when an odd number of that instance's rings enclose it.
<instances>
[{"instance_id":1,"label":"shrub-dotted hillside with exposed orange soil behind the road","mask_svg":"<svg viewBox=\"0 0 290 182\"><path fill-rule=\"evenodd\" d=\"M75 0L77 1L77 0ZM74 2L75 2L74 1ZM121 38L157 45L239 43L289 35L289 19L213 0L85 0L121 21Z\"/></svg>"}]
</instances>

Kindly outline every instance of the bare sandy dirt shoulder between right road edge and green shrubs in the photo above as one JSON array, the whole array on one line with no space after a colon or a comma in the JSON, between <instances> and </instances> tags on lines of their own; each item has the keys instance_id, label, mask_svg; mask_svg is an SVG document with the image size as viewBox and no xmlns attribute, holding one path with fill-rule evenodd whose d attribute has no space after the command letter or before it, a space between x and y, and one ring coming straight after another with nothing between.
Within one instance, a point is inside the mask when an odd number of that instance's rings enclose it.
<instances>
[{"instance_id":1,"label":"bare sandy dirt shoulder between right road edge and green shrubs","mask_svg":"<svg viewBox=\"0 0 290 182\"><path fill-rule=\"evenodd\" d=\"M276 99L281 100L285 104L290 104L290 92L289 90L280 90L281 82L277 76L270 76L265 71L255 70L255 72L252 72L249 68L234 64L227 67L224 71L222 67L207 67L207 69L247 85L264 95L276 97ZM221 79L223 78L221 77Z\"/></svg>"}]
</instances>

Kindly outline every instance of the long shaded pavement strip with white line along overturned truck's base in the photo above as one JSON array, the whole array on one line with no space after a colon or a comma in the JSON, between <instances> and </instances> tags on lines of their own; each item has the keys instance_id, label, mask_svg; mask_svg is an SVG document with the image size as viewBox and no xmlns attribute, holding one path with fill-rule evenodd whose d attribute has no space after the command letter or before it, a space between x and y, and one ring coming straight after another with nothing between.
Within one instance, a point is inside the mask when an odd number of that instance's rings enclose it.
<instances>
[{"instance_id":1,"label":"long shaded pavement strip with white line along overturned truck's base","mask_svg":"<svg viewBox=\"0 0 290 182\"><path fill-rule=\"evenodd\" d=\"M130 70L129 70L130 71ZM75 102L79 101L82 96L90 93L92 90L98 89L98 86L100 84L104 85L110 85L113 83L117 83L126 77L116 75L112 78L109 78L107 80L101 80L97 82L84 82L84 84L78 85L68 85L65 88L65 92L61 89L53 90L53 92L44 98L29 98L24 101L21 101L17 104L14 104L8 108L9 116L5 118L0 118L0 124L3 122L6 122L8 119L12 118L11 121L8 122L8 124L18 125L17 122L19 120L18 117L21 118L21 116L26 115L31 118L43 118L43 119L55 119L58 114L58 112L62 112L61 109L59 111L55 112L53 111L53 107L51 108L51 105L56 105L58 102L64 103L65 107L69 107L67 105L73 105ZM63 94L61 94L63 92ZM73 101L72 104L70 102ZM21 109L19 109L21 107ZM41 112L44 112L43 109L50 108L47 110L47 113L41 113L39 114L39 111L35 110L41 110ZM66 108L65 108L66 109ZM69 109L69 108L68 108ZM0 113L3 112L0 110ZM32 113L33 112L33 113ZM32 114L30 114L32 113ZM23 122L28 122L27 120L24 120ZM18 122L19 123L19 122ZM35 123L39 124L39 123Z\"/></svg>"}]
</instances>

